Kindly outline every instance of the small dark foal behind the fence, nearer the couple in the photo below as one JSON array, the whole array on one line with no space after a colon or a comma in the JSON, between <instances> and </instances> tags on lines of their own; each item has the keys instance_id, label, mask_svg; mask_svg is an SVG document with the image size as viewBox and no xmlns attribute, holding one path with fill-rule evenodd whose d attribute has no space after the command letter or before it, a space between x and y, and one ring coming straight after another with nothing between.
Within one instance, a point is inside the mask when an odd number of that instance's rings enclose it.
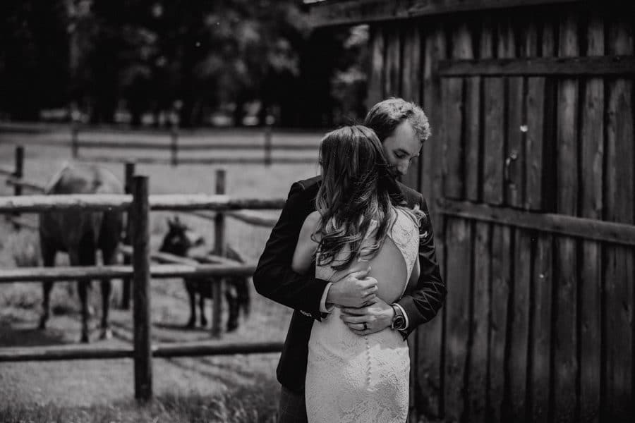
<instances>
[{"instance_id":1,"label":"small dark foal behind the fence, nearer the couple","mask_svg":"<svg viewBox=\"0 0 635 423\"><path fill-rule=\"evenodd\" d=\"M193 247L198 247L204 243L201 236L191 231L188 226L181 223L178 217L174 220L168 219L168 232L163 238L160 252L168 252L179 257L188 257ZM236 262L243 263L241 255L230 246L225 249L225 257ZM212 298L212 283L217 283L217 277L183 278L188 297L190 300L190 318L186 327L196 326L196 295L198 295L198 305L200 309L200 325L207 326L205 318L205 298ZM228 332L238 329L238 317L241 312L245 317L250 311L249 281L246 276L229 276L225 278L225 300L229 306L229 319L226 330Z\"/></svg>"}]
</instances>

